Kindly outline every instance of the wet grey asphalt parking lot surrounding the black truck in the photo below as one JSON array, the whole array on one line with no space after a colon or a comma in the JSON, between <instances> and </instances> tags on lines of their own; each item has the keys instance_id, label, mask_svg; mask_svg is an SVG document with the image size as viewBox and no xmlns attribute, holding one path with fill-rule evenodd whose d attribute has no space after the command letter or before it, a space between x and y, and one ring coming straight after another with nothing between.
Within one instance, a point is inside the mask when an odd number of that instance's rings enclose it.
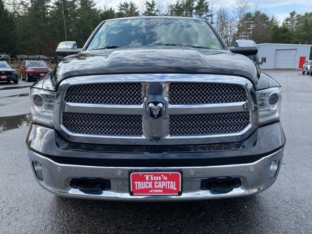
<instances>
[{"instance_id":1,"label":"wet grey asphalt parking lot surrounding the black truck","mask_svg":"<svg viewBox=\"0 0 312 234\"><path fill-rule=\"evenodd\" d=\"M32 83L0 83L0 233L312 233L312 76L265 72L283 93L279 177L252 197L203 202L99 202L43 190L26 156Z\"/></svg>"}]
</instances>

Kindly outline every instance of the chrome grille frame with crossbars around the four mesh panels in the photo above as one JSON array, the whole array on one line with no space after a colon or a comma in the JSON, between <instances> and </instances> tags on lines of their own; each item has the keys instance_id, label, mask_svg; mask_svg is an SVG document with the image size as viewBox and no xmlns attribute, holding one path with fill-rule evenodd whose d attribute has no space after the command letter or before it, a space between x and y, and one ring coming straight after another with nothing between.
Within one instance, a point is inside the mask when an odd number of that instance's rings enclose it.
<instances>
[{"instance_id":1,"label":"chrome grille frame with crossbars around the four mesh panels","mask_svg":"<svg viewBox=\"0 0 312 234\"><path fill-rule=\"evenodd\" d=\"M142 82L143 105L101 105L66 103L64 94L68 87L78 84L91 83L125 83ZM208 82L227 83L244 86L248 101L218 104L169 104L169 85L172 82ZM152 89L151 89L152 88ZM158 90L157 94L153 92ZM150 100L161 99L165 102L166 113L161 119L151 120L146 115L146 103ZM64 79L57 90L54 108L54 127L66 139L72 142L100 143L100 144L210 144L222 142L241 141L247 138L258 126L258 110L256 95L253 84L246 78L225 75L207 74L117 74L117 75L94 75ZM255 108L251 108L255 107ZM174 114L210 114L222 110L227 112L250 112L250 124L241 132L223 135L203 135L188 137L169 136L169 115ZM143 117L143 136L93 136L81 135L68 131L61 124L62 112L78 112L93 114L137 114ZM116 140L118 139L118 140Z\"/></svg>"}]
</instances>

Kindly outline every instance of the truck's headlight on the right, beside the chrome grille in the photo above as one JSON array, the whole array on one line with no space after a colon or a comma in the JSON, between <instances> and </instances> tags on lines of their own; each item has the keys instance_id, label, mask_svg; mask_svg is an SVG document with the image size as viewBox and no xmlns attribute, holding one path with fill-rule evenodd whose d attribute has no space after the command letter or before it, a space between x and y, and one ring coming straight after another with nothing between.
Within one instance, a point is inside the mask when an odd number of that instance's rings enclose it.
<instances>
[{"instance_id":1,"label":"truck's headlight on the right, beside the chrome grille","mask_svg":"<svg viewBox=\"0 0 312 234\"><path fill-rule=\"evenodd\" d=\"M256 93L258 96L259 123L279 119L282 102L281 87L258 90Z\"/></svg>"}]
</instances>

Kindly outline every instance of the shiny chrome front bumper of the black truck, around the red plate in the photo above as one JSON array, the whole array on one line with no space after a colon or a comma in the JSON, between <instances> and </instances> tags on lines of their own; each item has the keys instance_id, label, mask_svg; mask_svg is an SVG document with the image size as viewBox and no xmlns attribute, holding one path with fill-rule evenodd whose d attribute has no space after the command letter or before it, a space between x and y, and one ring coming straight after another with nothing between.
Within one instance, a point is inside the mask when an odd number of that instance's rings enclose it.
<instances>
[{"instance_id":1,"label":"shiny chrome front bumper of the black truck, around the red plate","mask_svg":"<svg viewBox=\"0 0 312 234\"><path fill-rule=\"evenodd\" d=\"M34 152L27 151L30 164L37 182L44 189L60 196L73 198L119 200L119 201L184 201L184 200L205 200L215 198L231 198L254 195L269 188L278 175L284 149L265 156L253 163L233 164L207 167L96 167L84 165L59 164L55 161L40 156ZM270 170L271 163L278 160L277 171ZM41 164L43 181L36 176L33 161ZM182 170L183 191L180 196L132 196L129 194L129 171L133 170ZM276 172L276 173L275 173ZM78 189L70 187L72 178L97 177L109 179L111 189L100 191L95 194L86 194ZM230 193L215 193L210 190L201 190L201 180L215 177L238 177L241 186L234 188Z\"/></svg>"}]
</instances>

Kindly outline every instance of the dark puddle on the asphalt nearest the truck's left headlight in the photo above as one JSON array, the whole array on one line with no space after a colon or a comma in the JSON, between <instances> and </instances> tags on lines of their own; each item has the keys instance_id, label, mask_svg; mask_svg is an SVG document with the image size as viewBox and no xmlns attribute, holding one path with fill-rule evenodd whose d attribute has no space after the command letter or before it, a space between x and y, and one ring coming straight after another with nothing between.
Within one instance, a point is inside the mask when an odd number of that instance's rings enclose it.
<instances>
[{"instance_id":1,"label":"dark puddle on the asphalt nearest the truck's left headlight","mask_svg":"<svg viewBox=\"0 0 312 234\"><path fill-rule=\"evenodd\" d=\"M0 117L0 132L27 127L31 123L31 114Z\"/></svg>"}]
</instances>

